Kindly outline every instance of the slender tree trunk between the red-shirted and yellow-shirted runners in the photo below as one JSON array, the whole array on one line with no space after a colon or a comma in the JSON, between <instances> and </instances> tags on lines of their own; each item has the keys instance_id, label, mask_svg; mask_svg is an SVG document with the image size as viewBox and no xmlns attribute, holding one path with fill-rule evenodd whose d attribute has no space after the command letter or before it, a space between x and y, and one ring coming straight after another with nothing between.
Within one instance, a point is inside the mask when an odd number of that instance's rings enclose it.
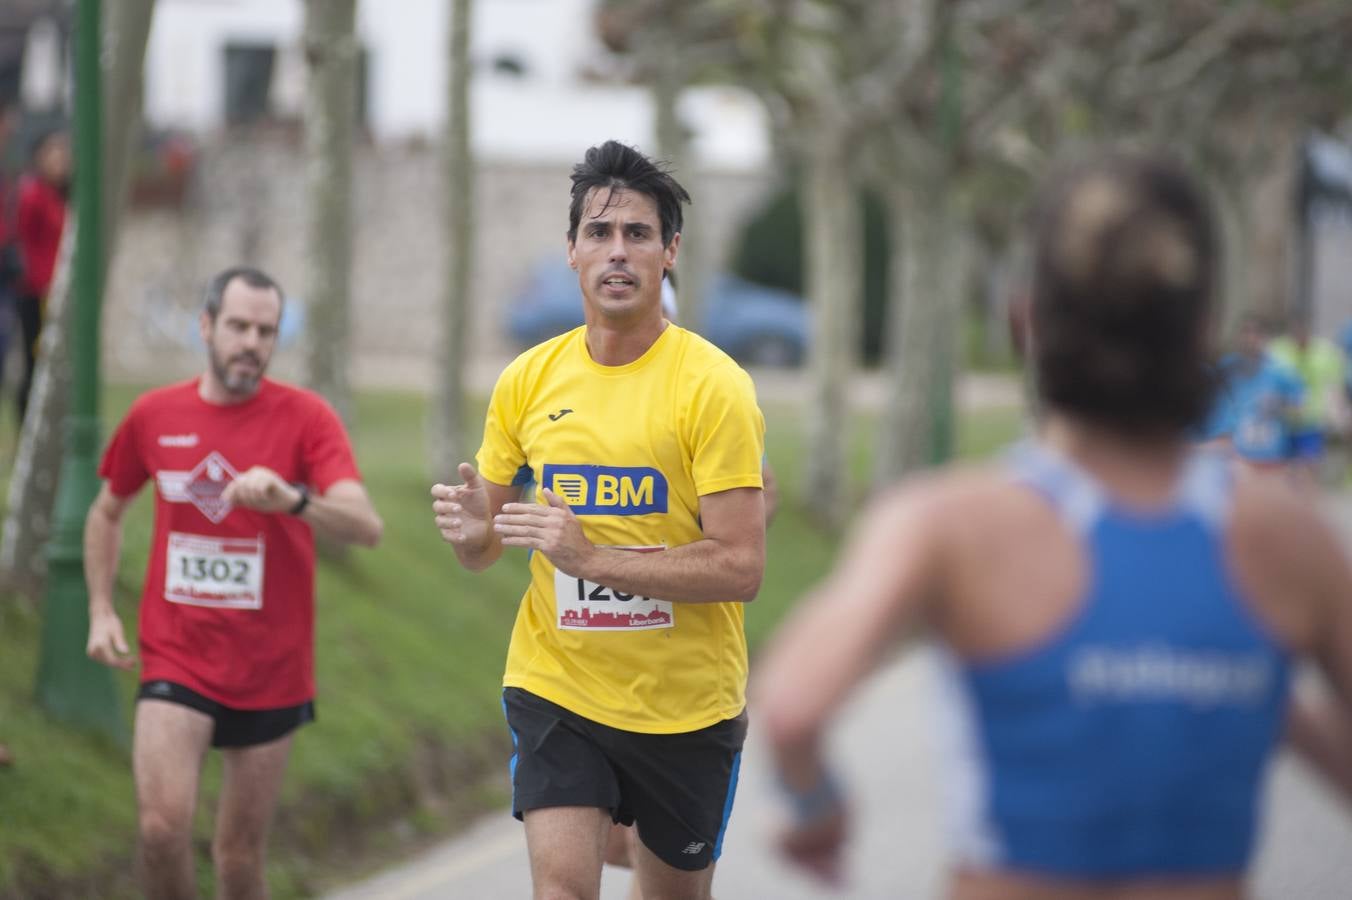
<instances>
[{"instance_id":1,"label":"slender tree trunk between the red-shirted and yellow-shirted runners","mask_svg":"<svg viewBox=\"0 0 1352 900\"><path fill-rule=\"evenodd\" d=\"M458 481L456 466L473 447L465 439L465 364L469 347L469 289L475 258L475 158L469 142L469 26L473 0L454 0L450 9L446 81L446 186L442 216L446 228L446 293L442 299L441 380L433 415L431 474Z\"/></svg>"}]
</instances>

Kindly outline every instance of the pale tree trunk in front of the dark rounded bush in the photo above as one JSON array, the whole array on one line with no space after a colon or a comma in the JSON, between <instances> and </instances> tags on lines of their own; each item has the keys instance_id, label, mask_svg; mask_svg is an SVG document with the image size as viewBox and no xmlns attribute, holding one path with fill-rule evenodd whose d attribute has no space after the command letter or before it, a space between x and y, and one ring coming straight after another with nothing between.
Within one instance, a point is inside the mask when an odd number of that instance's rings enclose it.
<instances>
[{"instance_id":1,"label":"pale tree trunk in front of the dark rounded bush","mask_svg":"<svg viewBox=\"0 0 1352 900\"><path fill-rule=\"evenodd\" d=\"M845 520L849 501L849 378L857 355L863 301L863 211L850 178L846 147L818 127L807 150L807 297L813 339L808 354L811 405L802 496L829 527Z\"/></svg>"}]
</instances>

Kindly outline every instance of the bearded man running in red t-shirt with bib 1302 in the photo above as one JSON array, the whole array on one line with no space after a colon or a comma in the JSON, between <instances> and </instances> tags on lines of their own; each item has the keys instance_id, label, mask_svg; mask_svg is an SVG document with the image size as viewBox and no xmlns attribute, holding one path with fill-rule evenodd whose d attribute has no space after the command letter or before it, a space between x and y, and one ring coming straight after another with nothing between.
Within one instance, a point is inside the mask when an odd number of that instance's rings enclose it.
<instances>
[{"instance_id":1,"label":"bearded man running in red t-shirt with bib 1302","mask_svg":"<svg viewBox=\"0 0 1352 900\"><path fill-rule=\"evenodd\" d=\"M375 546L381 522L342 423L316 395L264 378L283 293L257 269L207 288L206 372L142 395L108 443L85 520L93 659L132 669L112 605L122 516L155 484L141 597L132 769L149 897L192 897L192 819L208 747L224 780L218 897L262 897L268 827L292 732L314 719L312 528Z\"/></svg>"}]
</instances>

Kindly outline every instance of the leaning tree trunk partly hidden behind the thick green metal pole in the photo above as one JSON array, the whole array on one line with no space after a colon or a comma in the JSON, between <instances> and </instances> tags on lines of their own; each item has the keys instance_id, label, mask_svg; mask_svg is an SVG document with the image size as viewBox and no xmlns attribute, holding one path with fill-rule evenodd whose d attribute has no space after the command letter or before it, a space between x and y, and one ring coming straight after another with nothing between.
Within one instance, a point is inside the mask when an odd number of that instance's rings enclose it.
<instances>
[{"instance_id":1,"label":"leaning tree trunk partly hidden behind the thick green metal pole","mask_svg":"<svg viewBox=\"0 0 1352 900\"><path fill-rule=\"evenodd\" d=\"M107 281L108 266L116 250L118 216L130 184L132 149L141 134L142 72L154 5L154 0L122 0L104 7L104 232L100 285ZM46 588L47 559L43 549L51 534L51 512L65 446L62 426L70 400L66 335L74 235L76 220L70 215L47 295L47 322L39 341L28 415L19 435L19 450L9 478L9 503L0 530L0 572L4 573L7 586L34 599L41 597Z\"/></svg>"}]
</instances>

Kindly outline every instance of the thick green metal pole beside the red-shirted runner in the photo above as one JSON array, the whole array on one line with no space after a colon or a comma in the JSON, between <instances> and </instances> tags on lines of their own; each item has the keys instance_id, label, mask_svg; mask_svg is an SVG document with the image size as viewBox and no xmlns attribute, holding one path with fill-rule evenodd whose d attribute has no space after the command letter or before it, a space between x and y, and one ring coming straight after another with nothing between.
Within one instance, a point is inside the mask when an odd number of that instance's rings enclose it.
<instances>
[{"instance_id":1,"label":"thick green metal pole beside the red-shirted runner","mask_svg":"<svg viewBox=\"0 0 1352 900\"><path fill-rule=\"evenodd\" d=\"M89 595L84 519L99 492L99 307L103 292L103 86L99 0L80 0L76 20L76 255L70 309L70 414L47 546L47 595L38 703L74 726L126 741L112 672L85 655Z\"/></svg>"}]
</instances>

